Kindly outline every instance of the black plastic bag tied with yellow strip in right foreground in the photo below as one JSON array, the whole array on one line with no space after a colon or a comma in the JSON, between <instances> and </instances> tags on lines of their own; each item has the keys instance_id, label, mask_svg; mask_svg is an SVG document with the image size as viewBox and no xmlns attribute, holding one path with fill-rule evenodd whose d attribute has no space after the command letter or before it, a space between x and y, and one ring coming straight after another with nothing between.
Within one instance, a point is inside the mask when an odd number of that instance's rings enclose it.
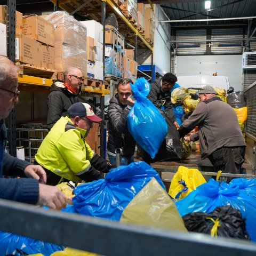
<instances>
[{"instance_id":1,"label":"black plastic bag tied with yellow strip in right foreground","mask_svg":"<svg viewBox=\"0 0 256 256\"><path fill-rule=\"evenodd\" d=\"M204 212L189 213L183 216L183 221L188 231L211 234L214 222L209 218L214 221L219 219L220 227L217 229L219 237L250 240L245 228L245 219L242 218L241 212L229 205L219 206L209 214Z\"/></svg>"}]
</instances>

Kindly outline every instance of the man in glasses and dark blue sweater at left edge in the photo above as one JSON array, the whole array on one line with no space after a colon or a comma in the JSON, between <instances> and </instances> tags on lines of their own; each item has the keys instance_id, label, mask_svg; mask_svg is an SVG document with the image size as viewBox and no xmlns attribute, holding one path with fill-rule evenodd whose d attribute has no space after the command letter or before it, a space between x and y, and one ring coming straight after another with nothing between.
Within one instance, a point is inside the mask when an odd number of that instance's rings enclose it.
<instances>
[{"instance_id":1,"label":"man in glasses and dark blue sweater at left edge","mask_svg":"<svg viewBox=\"0 0 256 256\"><path fill-rule=\"evenodd\" d=\"M0 198L61 209L66 206L66 197L58 188L45 185L46 173L42 167L5 152L7 138L4 118L18 103L19 93L17 68L9 59L0 56ZM6 179L2 178L3 174L28 178Z\"/></svg>"}]
</instances>

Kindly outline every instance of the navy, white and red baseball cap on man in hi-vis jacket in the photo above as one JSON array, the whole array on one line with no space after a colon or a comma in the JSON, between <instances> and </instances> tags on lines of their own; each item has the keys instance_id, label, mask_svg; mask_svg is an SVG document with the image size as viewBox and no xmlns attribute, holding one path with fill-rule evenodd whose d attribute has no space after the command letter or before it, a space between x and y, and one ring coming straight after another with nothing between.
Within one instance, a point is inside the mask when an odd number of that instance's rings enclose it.
<instances>
[{"instance_id":1,"label":"navy, white and red baseball cap on man in hi-vis jacket","mask_svg":"<svg viewBox=\"0 0 256 256\"><path fill-rule=\"evenodd\" d=\"M98 116L95 116L92 107L87 103L77 102L71 105L68 109L68 116L75 117L75 116L85 116L92 122L99 123L102 119Z\"/></svg>"}]
</instances>

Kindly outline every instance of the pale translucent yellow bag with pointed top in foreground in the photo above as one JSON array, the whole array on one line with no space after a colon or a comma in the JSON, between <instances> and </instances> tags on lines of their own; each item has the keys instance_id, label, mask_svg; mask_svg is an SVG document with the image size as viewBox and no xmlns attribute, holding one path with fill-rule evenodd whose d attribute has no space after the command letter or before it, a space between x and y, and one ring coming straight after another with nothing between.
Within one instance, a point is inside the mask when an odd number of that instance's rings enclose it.
<instances>
[{"instance_id":1,"label":"pale translucent yellow bag with pointed top in foreground","mask_svg":"<svg viewBox=\"0 0 256 256\"><path fill-rule=\"evenodd\" d=\"M125 207L120 222L187 232L175 204L155 178Z\"/></svg>"}]
</instances>

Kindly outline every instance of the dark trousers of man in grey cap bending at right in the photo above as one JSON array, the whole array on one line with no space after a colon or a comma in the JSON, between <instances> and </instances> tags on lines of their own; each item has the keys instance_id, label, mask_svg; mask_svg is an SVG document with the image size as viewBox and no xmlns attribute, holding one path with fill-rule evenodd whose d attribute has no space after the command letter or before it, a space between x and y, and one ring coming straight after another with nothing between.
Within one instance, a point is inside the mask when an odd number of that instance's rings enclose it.
<instances>
[{"instance_id":1,"label":"dark trousers of man in grey cap bending at right","mask_svg":"<svg viewBox=\"0 0 256 256\"><path fill-rule=\"evenodd\" d=\"M244 163L245 147L222 147L214 151L208 158L210 159L214 171L221 170L223 173L241 173ZM230 181L228 177L227 181Z\"/></svg>"}]
</instances>

